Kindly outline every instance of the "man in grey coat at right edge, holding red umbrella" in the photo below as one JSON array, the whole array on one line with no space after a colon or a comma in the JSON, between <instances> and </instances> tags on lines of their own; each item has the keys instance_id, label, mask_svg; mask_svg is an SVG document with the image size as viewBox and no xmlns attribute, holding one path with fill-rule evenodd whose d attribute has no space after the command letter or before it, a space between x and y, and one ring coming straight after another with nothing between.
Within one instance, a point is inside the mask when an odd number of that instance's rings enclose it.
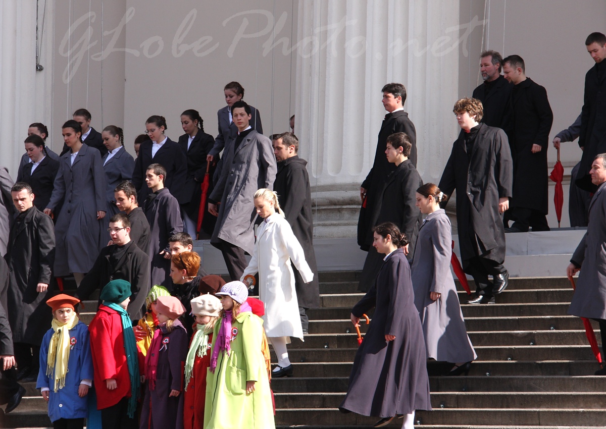
<instances>
[{"instance_id":1,"label":"man in grey coat at right edge, holding red umbrella","mask_svg":"<svg viewBox=\"0 0 606 429\"><path fill-rule=\"evenodd\" d=\"M602 274L606 266L606 153L596 155L589 175L598 190L589 205L587 232L566 268L568 278L581 271L568 314L598 321L602 344L606 344L606 280ZM596 371L596 375L606 375L606 368Z\"/></svg>"}]
</instances>

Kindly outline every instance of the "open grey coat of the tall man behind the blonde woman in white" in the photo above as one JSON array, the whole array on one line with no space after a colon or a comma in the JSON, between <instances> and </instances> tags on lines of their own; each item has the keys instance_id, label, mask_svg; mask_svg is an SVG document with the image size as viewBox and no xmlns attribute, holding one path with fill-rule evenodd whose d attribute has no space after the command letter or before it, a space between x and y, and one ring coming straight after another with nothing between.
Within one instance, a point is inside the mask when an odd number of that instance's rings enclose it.
<instances>
[{"instance_id":1,"label":"open grey coat of the tall man behind the blonde woman in white","mask_svg":"<svg viewBox=\"0 0 606 429\"><path fill-rule=\"evenodd\" d=\"M237 150L231 140L223 159L221 178L210 194L211 201L221 202L210 242L216 245L222 239L253 254L256 219L253 196L259 188L273 187L277 170L273 147L270 139L252 130Z\"/></svg>"}]
</instances>

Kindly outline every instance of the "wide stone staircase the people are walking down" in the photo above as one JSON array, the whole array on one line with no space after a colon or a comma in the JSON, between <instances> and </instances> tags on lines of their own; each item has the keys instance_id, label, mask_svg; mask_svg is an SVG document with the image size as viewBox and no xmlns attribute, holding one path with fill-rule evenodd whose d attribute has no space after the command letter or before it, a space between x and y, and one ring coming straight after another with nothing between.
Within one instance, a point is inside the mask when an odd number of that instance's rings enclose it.
<instances>
[{"instance_id":1,"label":"wide stone staircase the people are walking down","mask_svg":"<svg viewBox=\"0 0 606 429\"><path fill-rule=\"evenodd\" d=\"M289 345L295 377L273 379L279 428L370 428L374 417L339 413L358 348L350 322L359 273L321 273L321 308L309 311L310 334ZM606 377L579 318L567 316L573 291L565 278L514 278L494 305L463 305L478 361L469 376L430 377L433 411L419 411L427 429L576 429L606 427ZM459 293L462 301L467 295ZM86 302L92 311L96 302ZM88 324L93 313L81 313ZM371 316L371 314L368 314ZM362 332L367 330L362 324ZM599 333L598 334L599 339ZM273 359L275 361L275 357ZM2 428L46 428L46 404L34 383ZM395 421L389 427L401 427ZM242 428L244 429L244 428Z\"/></svg>"}]
</instances>

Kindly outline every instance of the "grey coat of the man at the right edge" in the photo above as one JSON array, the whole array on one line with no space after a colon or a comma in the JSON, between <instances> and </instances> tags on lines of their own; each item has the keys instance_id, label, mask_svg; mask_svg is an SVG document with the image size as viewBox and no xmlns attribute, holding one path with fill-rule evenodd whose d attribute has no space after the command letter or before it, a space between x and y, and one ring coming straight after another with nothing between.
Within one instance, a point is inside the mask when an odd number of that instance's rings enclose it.
<instances>
[{"instance_id":1,"label":"grey coat of the man at the right edge","mask_svg":"<svg viewBox=\"0 0 606 429\"><path fill-rule=\"evenodd\" d=\"M606 184L601 184L589 205L587 233L572 255L579 271L576 291L568 314L588 319L606 319Z\"/></svg>"}]
</instances>

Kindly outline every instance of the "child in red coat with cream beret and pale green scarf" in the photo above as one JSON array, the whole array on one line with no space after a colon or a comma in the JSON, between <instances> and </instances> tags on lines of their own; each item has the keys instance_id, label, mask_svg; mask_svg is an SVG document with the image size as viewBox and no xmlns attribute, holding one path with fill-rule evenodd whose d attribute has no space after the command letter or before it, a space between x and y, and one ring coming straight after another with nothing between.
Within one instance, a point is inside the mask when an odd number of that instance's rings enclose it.
<instances>
[{"instance_id":1,"label":"child in red coat with cream beret and pale green scarf","mask_svg":"<svg viewBox=\"0 0 606 429\"><path fill-rule=\"evenodd\" d=\"M221 301L205 294L191 301L191 314L196 318L194 334L185 361L185 405L183 409L185 429L202 429L206 396L206 374L210 367L210 349L215 322L219 318Z\"/></svg>"}]
</instances>

